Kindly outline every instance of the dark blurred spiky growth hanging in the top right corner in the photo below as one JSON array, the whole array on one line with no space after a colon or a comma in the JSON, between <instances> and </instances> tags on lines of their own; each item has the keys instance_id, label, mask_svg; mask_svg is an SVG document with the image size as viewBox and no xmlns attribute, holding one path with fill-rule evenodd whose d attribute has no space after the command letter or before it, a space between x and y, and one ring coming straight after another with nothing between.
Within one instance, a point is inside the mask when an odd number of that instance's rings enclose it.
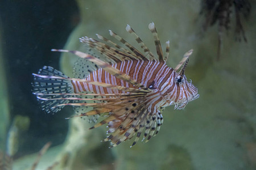
<instances>
[{"instance_id":1,"label":"dark blurred spiky growth hanging in the top right corner","mask_svg":"<svg viewBox=\"0 0 256 170\"><path fill-rule=\"evenodd\" d=\"M247 41L245 31L241 23L241 15L245 19L250 14L251 5L249 0L202 0L200 15L204 15L205 20L203 23L203 31L206 31L208 27L218 24L218 49L217 59L220 59L222 37L224 31L228 31L230 28L230 22L232 19L232 11L234 8L236 27L234 28L236 40Z\"/></svg>"}]
</instances>

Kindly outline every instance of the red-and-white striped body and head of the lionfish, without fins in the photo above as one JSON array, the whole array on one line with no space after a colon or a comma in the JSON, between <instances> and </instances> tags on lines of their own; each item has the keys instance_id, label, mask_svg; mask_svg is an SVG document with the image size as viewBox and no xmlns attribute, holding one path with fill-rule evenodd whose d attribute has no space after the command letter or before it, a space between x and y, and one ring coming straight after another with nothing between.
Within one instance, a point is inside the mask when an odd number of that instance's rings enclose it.
<instances>
[{"instance_id":1,"label":"red-and-white striped body and head of the lionfish, without fins","mask_svg":"<svg viewBox=\"0 0 256 170\"><path fill-rule=\"evenodd\" d=\"M131 78L136 80L138 83L143 84L145 87L150 88L150 86L152 86L151 88L154 89L154 97L152 97L152 100L154 98L155 103L148 103L149 109L151 109L151 107L167 107L171 104L184 103L184 99L191 100L192 97L194 97L193 94L196 94L197 92L195 87L188 86L191 83L188 83L187 81L181 86L175 83L177 74L174 69L168 67L165 62L159 62L156 60L126 60L114 63L112 66L122 71L122 73L131 76ZM134 87L133 84L116 78L104 69L93 71L88 75L86 80L115 84L123 87ZM96 86L77 80L73 80L72 85L75 93L86 91L94 92L95 94L120 93L118 90ZM127 92L122 91L122 93Z\"/></svg>"}]
</instances>

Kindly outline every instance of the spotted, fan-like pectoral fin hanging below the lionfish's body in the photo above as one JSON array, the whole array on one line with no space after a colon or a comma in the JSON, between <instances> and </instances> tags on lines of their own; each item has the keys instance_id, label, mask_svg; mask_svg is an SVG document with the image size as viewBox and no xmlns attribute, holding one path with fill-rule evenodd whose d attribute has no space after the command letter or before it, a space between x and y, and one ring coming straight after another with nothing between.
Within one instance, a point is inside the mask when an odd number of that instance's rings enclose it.
<instances>
[{"instance_id":1,"label":"spotted, fan-like pectoral fin hanging below the lionfish's body","mask_svg":"<svg viewBox=\"0 0 256 170\"><path fill-rule=\"evenodd\" d=\"M125 108L125 111L122 110L123 114L116 114L114 111L115 116L110 116L108 121L102 121L104 124L108 123L108 133L111 133L104 141L111 141L112 147L115 147L135 136L131 145L134 146L141 137L143 129L145 129L144 138L147 137L145 142L156 135L162 121L160 111L158 113L148 111L145 103L143 98L134 100L123 106Z\"/></svg>"}]
</instances>

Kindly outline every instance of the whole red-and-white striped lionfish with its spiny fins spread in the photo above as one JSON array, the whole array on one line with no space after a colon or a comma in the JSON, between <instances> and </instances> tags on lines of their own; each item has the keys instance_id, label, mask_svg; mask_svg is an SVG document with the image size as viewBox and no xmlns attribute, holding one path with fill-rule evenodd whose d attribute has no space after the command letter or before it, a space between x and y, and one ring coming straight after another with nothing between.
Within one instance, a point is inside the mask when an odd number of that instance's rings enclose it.
<instances>
[{"instance_id":1,"label":"whole red-and-white striped lionfish with its spiny fins spread","mask_svg":"<svg viewBox=\"0 0 256 170\"><path fill-rule=\"evenodd\" d=\"M94 121L104 115L104 120L89 129L108 124L107 134L110 135L104 141L110 141L112 147L135 136L131 145L134 146L143 130L143 139L147 138L145 142L158 134L165 107L174 104L175 109L183 109L199 94L191 80L188 81L184 75L192 50L185 53L180 63L172 69L166 65L170 42L166 42L163 56L154 23L150 23L148 28L154 37L158 58L130 25L127 25L126 31L135 37L144 54L110 30L110 36L121 42L123 47L96 34L101 41L80 38L89 53L52 49L53 52L73 53L80 60L75 65L76 78L69 78L49 66L33 74L34 94L42 109L47 113L55 113L72 105L78 108L77 115L73 117L94 116ZM92 49L94 54L90 54ZM85 111L88 107L90 109Z\"/></svg>"}]
</instances>

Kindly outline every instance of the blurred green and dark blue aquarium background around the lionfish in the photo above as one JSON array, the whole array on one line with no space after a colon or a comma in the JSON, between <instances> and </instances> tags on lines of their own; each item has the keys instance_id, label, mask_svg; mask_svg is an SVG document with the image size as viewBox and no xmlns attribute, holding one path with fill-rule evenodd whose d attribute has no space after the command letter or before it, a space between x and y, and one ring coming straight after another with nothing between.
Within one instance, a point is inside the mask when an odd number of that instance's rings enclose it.
<instances>
[{"instance_id":1,"label":"blurred green and dark blue aquarium background around the lionfish","mask_svg":"<svg viewBox=\"0 0 256 170\"><path fill-rule=\"evenodd\" d=\"M0 17L0 148L9 167L30 168L51 141L37 169L256 168L254 1L1 1ZM194 50L185 74L200 94L183 110L168 107L156 137L108 148L105 126L88 131L80 118L65 120L68 107L41 111L32 73L46 65L72 76L77 59L52 48L85 51L81 36L109 38L109 29L138 47L129 24L156 54L151 22L163 49L170 40L168 66Z\"/></svg>"}]
</instances>

